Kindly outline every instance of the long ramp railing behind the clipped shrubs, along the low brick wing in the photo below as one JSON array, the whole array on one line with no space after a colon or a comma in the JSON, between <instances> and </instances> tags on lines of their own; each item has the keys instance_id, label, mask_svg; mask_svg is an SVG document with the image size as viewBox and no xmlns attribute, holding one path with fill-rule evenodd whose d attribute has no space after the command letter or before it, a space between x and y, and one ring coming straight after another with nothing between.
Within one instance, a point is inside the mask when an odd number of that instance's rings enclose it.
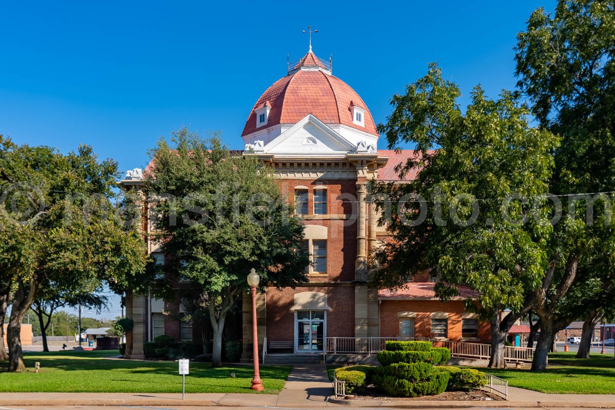
<instances>
[{"instance_id":1,"label":"long ramp railing behind the clipped shrubs, along the low brick wing","mask_svg":"<svg viewBox=\"0 0 615 410\"><path fill-rule=\"evenodd\" d=\"M449 349L452 357L485 360L491 357L490 344L438 341L426 337L327 337L323 357L326 360L327 353L372 355L384 350L387 341L431 341L434 347ZM531 362L533 358L534 348L516 346L504 348L506 361Z\"/></svg>"}]
</instances>

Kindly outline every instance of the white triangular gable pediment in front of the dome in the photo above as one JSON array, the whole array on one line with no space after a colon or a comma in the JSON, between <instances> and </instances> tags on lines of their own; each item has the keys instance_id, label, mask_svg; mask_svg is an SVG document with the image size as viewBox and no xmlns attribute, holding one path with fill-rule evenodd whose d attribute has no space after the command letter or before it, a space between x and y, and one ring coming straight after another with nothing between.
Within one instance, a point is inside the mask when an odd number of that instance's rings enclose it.
<instances>
[{"instance_id":1,"label":"white triangular gable pediment in front of the dome","mask_svg":"<svg viewBox=\"0 0 615 410\"><path fill-rule=\"evenodd\" d=\"M266 144L263 151L277 155L335 155L347 154L355 149L346 138L308 114Z\"/></svg>"}]
</instances>

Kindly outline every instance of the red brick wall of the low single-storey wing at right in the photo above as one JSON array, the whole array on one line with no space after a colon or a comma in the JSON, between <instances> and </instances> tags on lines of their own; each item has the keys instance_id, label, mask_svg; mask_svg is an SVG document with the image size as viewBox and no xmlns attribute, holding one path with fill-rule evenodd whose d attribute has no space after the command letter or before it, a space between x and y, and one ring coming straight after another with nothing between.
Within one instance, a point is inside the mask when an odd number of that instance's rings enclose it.
<instances>
[{"instance_id":1,"label":"red brick wall of the low single-storey wing at right","mask_svg":"<svg viewBox=\"0 0 615 410\"><path fill-rule=\"evenodd\" d=\"M383 301L380 306L380 334L382 337L399 336L399 312L415 312L415 337L431 336L431 313L448 313L448 338L461 339L461 315L465 312L462 301ZM488 341L488 323L478 324L478 337Z\"/></svg>"}]
</instances>

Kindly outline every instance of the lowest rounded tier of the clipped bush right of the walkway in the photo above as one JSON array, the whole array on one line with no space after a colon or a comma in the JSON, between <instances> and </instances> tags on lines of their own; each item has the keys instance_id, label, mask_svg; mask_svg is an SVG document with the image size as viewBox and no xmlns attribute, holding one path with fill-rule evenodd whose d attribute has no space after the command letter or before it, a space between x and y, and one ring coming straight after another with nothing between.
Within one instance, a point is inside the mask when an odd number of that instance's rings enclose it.
<instances>
[{"instance_id":1,"label":"lowest rounded tier of the clipped bush right of the walkway","mask_svg":"<svg viewBox=\"0 0 615 410\"><path fill-rule=\"evenodd\" d=\"M395 397L418 397L425 395L438 395L446 389L450 373L437 371L422 382L411 382L405 379L398 379L394 376L373 376L374 384L384 390L388 395Z\"/></svg>"}]
</instances>

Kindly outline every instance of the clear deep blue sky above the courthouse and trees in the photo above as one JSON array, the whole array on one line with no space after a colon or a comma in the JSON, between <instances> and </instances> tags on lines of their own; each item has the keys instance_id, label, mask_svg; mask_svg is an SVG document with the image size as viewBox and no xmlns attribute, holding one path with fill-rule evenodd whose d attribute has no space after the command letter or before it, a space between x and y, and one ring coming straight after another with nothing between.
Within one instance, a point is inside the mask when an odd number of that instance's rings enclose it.
<instances>
[{"instance_id":1,"label":"clear deep blue sky above the courthouse and trees","mask_svg":"<svg viewBox=\"0 0 615 410\"><path fill-rule=\"evenodd\" d=\"M3 2L0 133L63 152L91 144L121 170L143 167L182 125L242 148L245 119L286 74L287 53L308 51L308 25L319 30L314 52L333 53L333 74L376 123L431 61L462 103L479 83L495 97L514 88L515 35L541 6L555 1Z\"/></svg>"}]
</instances>

